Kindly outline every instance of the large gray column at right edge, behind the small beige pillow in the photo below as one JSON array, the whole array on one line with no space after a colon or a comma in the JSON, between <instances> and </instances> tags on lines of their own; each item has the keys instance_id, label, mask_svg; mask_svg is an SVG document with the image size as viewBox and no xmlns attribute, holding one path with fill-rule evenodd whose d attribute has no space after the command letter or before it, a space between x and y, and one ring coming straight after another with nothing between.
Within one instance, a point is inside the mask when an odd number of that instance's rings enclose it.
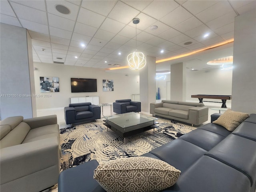
<instances>
[{"instance_id":1,"label":"large gray column at right edge, behind the small beige pillow","mask_svg":"<svg viewBox=\"0 0 256 192\"><path fill-rule=\"evenodd\" d=\"M256 14L237 16L234 28L232 110L256 113Z\"/></svg>"}]
</instances>

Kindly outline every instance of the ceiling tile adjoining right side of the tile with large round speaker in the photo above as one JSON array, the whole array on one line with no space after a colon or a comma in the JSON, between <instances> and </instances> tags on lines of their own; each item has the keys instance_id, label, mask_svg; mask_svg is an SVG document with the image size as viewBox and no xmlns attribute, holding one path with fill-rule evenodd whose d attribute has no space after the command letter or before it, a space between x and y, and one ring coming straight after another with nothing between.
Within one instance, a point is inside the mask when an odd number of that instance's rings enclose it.
<instances>
[{"instance_id":1,"label":"ceiling tile adjoining right side of the tile with large round speaker","mask_svg":"<svg viewBox=\"0 0 256 192\"><path fill-rule=\"evenodd\" d=\"M102 16L98 13L92 12L84 8L80 8L77 21L98 28L105 20L105 18L105 16Z\"/></svg>"}]
</instances>

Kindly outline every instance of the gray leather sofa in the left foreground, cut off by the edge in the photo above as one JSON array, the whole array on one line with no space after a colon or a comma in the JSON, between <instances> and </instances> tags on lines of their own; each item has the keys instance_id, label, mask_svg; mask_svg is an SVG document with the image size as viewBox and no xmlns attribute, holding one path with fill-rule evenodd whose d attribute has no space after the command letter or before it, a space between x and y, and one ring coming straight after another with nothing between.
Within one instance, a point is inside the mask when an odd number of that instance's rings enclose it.
<instances>
[{"instance_id":1,"label":"gray leather sofa in the left foreground, cut off by the edge","mask_svg":"<svg viewBox=\"0 0 256 192\"><path fill-rule=\"evenodd\" d=\"M56 115L0 122L1 192L39 192L58 183L60 134Z\"/></svg>"}]
</instances>

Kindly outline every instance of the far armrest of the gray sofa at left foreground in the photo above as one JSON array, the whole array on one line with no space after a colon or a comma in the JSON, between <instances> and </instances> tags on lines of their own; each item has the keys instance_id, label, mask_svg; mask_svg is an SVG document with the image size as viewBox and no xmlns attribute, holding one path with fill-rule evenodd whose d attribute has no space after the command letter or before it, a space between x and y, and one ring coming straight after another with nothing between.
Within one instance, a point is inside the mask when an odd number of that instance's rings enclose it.
<instances>
[{"instance_id":1,"label":"far armrest of the gray sofa at left foreground","mask_svg":"<svg viewBox=\"0 0 256 192\"><path fill-rule=\"evenodd\" d=\"M31 129L57 124L57 116L56 115L48 115L42 117L34 117L29 119L24 119L23 122L27 123Z\"/></svg>"}]
</instances>

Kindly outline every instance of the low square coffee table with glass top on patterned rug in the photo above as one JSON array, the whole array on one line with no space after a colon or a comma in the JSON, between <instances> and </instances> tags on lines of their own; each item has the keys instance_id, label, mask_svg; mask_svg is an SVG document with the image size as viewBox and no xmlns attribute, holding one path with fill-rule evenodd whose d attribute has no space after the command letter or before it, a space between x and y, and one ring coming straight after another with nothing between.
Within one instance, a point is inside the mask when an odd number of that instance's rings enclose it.
<instances>
[{"instance_id":1,"label":"low square coffee table with glass top on patterned rug","mask_svg":"<svg viewBox=\"0 0 256 192\"><path fill-rule=\"evenodd\" d=\"M158 118L145 116L136 112L104 116L104 125L125 138L158 127Z\"/></svg>"}]
</instances>

